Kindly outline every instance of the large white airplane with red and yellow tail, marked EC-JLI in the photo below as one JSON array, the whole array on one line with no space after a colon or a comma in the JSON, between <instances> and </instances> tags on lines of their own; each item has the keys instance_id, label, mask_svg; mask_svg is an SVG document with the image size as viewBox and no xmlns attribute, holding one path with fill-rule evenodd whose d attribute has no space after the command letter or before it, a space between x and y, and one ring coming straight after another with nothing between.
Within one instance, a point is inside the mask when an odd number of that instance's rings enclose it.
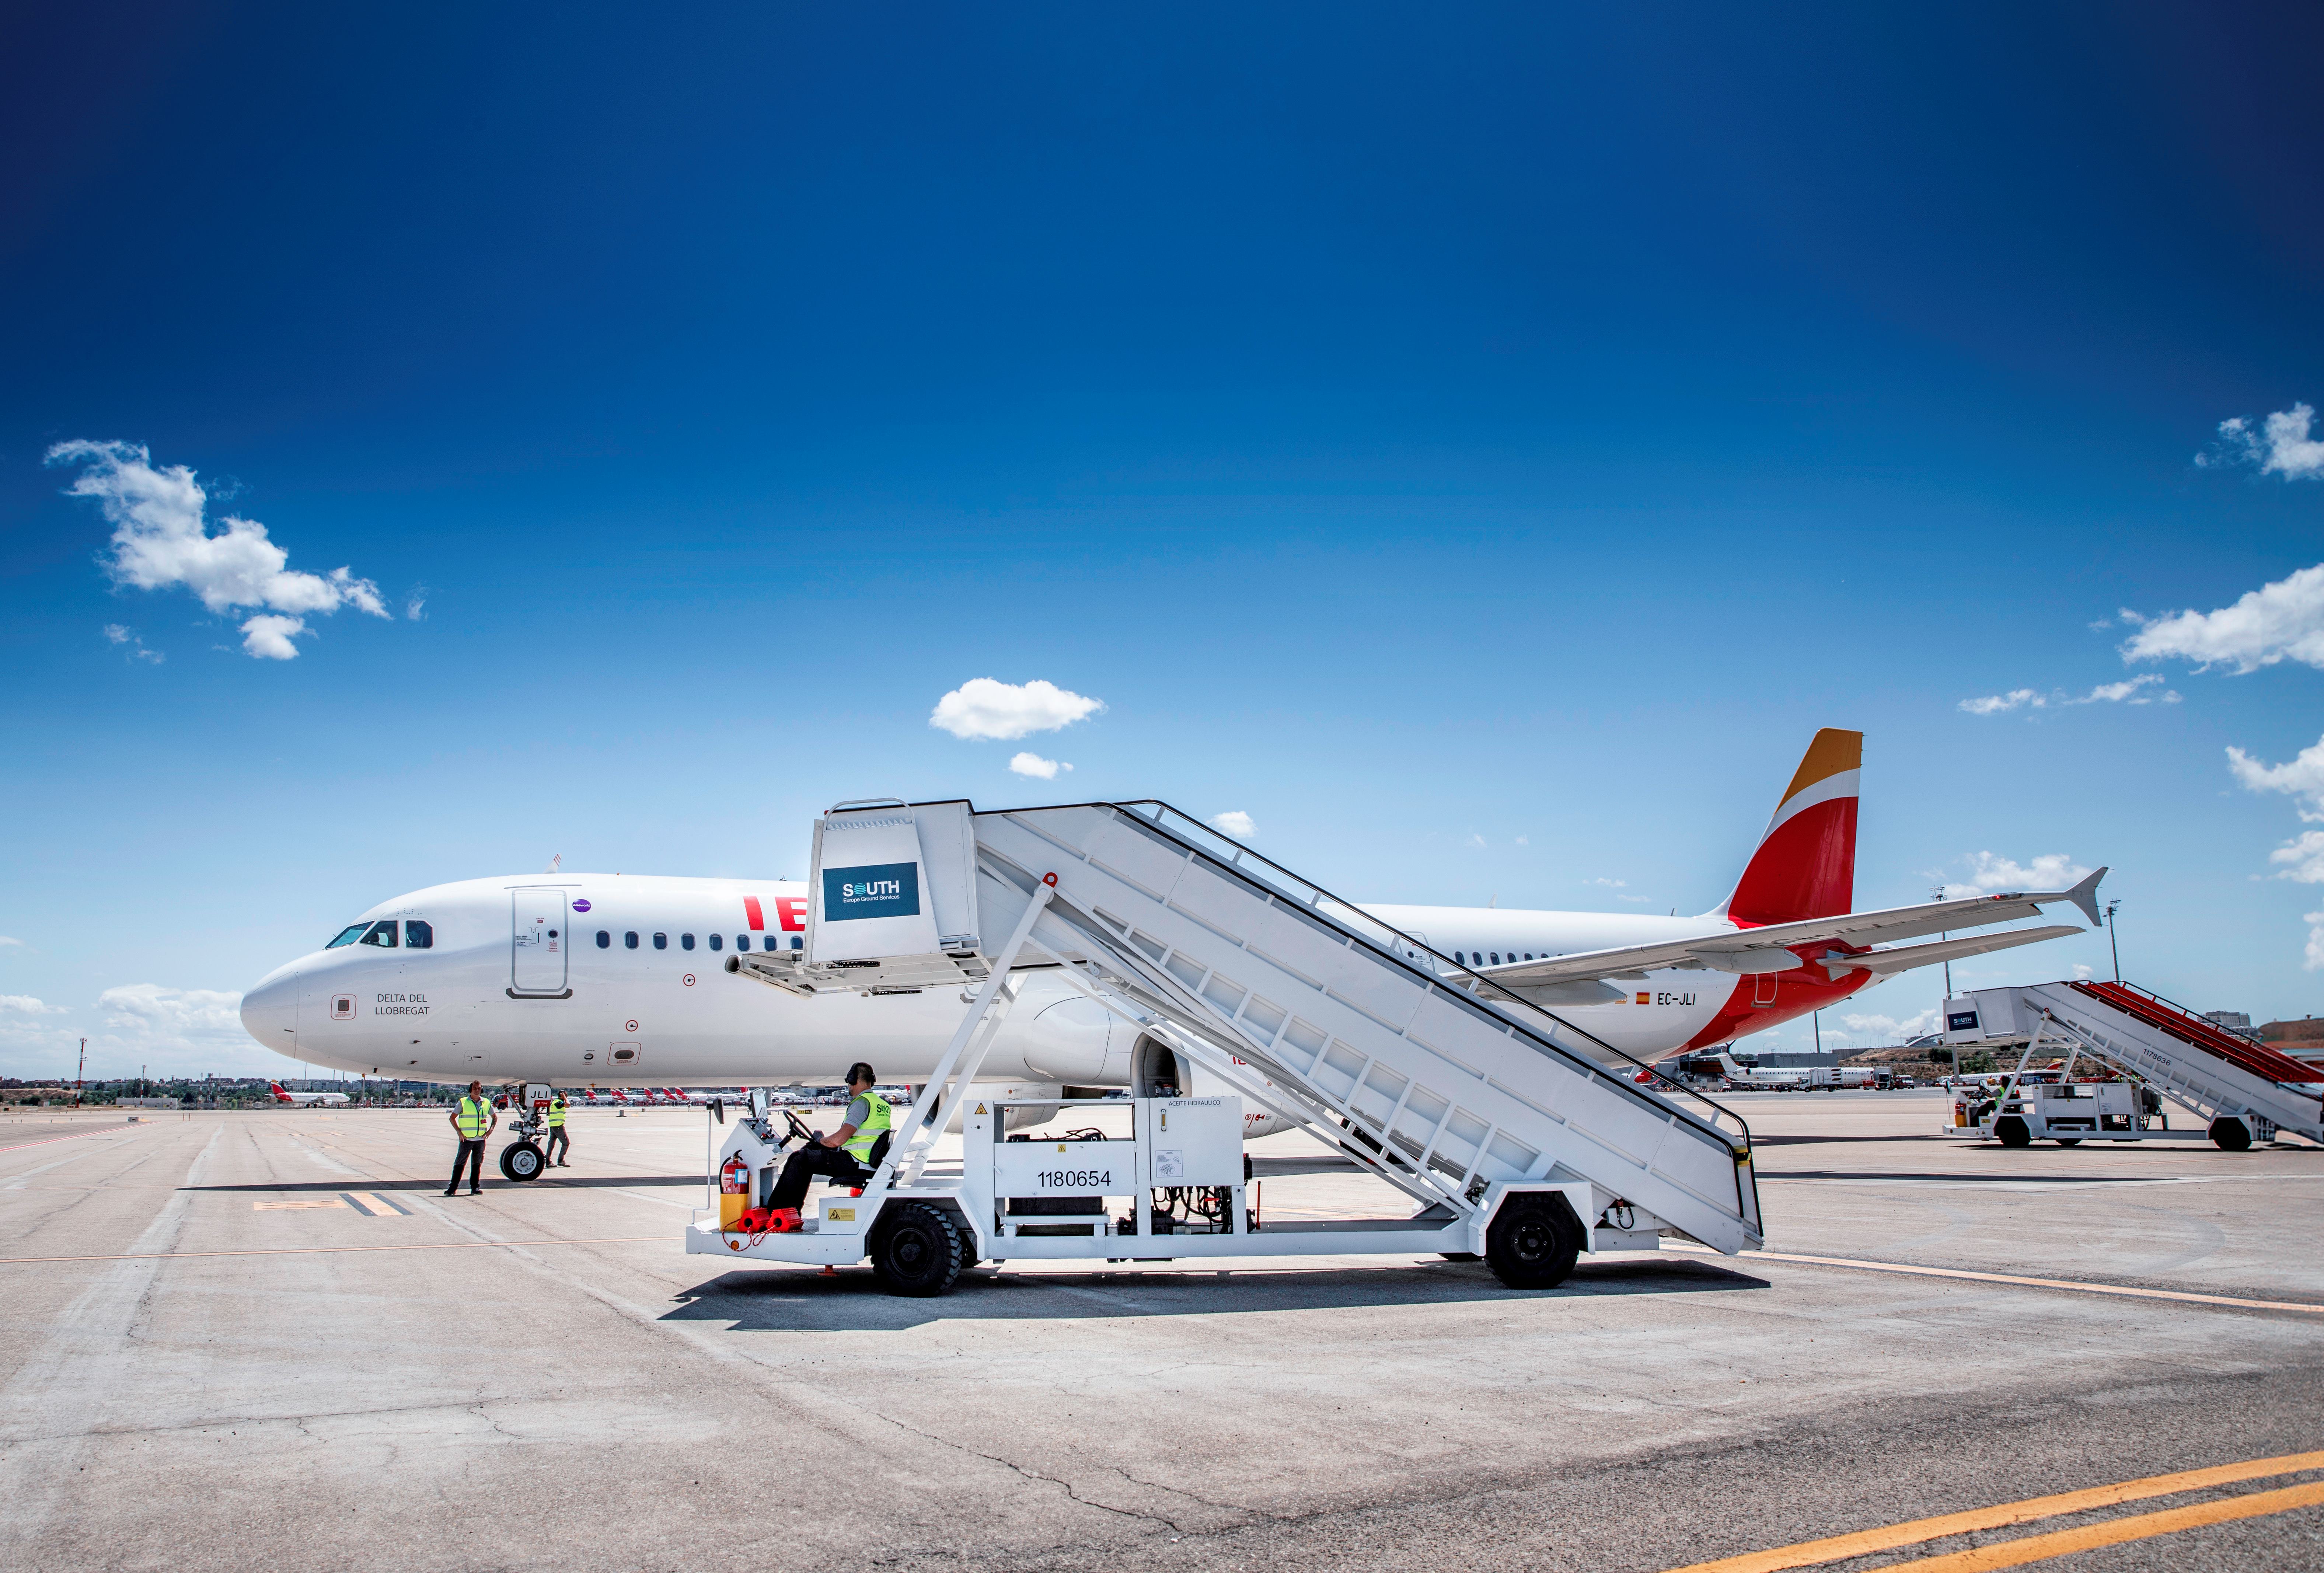
<instances>
[{"instance_id":1,"label":"large white airplane with red and yellow tail, marked EC-JLI","mask_svg":"<svg viewBox=\"0 0 2324 1573\"><path fill-rule=\"evenodd\" d=\"M1908 967L2080 929L1875 941L1989 927L2054 902L2099 920L2106 869L2073 890L1848 911L1862 748L1862 732L1815 734L1734 895L1699 918L1367 911L1411 936L1413 964L1508 990L1636 1060L1764 1032ZM925 1080L960 1022L953 992L797 997L727 971L737 955L804 939L804 883L474 878L381 902L260 978L242 1025L281 1055L365 1076L779 1087L830 1083L867 1060L885 1080ZM1153 1083L1225 1090L1037 969L1020 974L983 1069L1011 1101ZM1276 1129L1262 1111L1246 1118L1250 1136Z\"/></svg>"}]
</instances>

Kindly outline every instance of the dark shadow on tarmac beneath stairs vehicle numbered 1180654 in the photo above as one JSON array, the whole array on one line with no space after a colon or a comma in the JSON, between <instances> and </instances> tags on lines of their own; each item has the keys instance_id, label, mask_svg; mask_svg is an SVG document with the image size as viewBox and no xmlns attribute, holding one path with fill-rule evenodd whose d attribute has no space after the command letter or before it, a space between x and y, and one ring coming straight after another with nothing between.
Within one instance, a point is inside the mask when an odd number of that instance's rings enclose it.
<instances>
[{"instance_id":1,"label":"dark shadow on tarmac beneath stairs vehicle numbered 1180654","mask_svg":"<svg viewBox=\"0 0 2324 1573\"><path fill-rule=\"evenodd\" d=\"M1346 1310L1613 1294L1734 1294L1766 1287L1771 1287L1766 1278L1683 1259L1587 1262L1555 1290L1504 1290L1483 1262L1218 1273L1139 1271L1125 1262L1090 1273L1011 1273L985 1266L962 1273L953 1292L941 1299L904 1299L881 1290L865 1266L841 1269L832 1278L799 1266L720 1273L681 1290L683 1303L662 1320L725 1322L730 1331L909 1331L927 1322Z\"/></svg>"}]
</instances>

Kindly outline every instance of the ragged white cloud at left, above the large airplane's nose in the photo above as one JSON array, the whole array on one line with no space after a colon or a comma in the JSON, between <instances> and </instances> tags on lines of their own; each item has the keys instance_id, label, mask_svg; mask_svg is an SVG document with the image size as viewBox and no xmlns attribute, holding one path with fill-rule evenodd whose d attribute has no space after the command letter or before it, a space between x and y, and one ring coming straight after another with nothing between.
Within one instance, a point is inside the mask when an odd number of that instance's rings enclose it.
<instances>
[{"instance_id":1,"label":"ragged white cloud at left, above the large airplane's nose","mask_svg":"<svg viewBox=\"0 0 2324 1573\"><path fill-rule=\"evenodd\" d=\"M132 590L193 590L211 613L237 606L288 613L242 625L242 648L251 655L297 655L290 634L304 632L302 616L339 606L388 616L379 586L370 579L356 579L344 567L330 574L288 567L290 553L267 539L267 527L253 518L230 513L218 534L211 534L205 520L209 493L186 465L156 469L146 448L130 441L60 441L49 448L49 462L81 465L70 493L95 497L112 520L114 551L105 569L114 583Z\"/></svg>"}]
</instances>

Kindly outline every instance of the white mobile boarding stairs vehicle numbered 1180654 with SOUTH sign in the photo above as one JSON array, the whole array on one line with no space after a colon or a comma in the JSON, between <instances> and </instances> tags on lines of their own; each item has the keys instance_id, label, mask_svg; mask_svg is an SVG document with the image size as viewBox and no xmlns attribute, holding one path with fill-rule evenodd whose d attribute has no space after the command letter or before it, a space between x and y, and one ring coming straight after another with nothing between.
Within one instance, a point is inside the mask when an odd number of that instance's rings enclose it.
<instances>
[{"instance_id":1,"label":"white mobile boarding stairs vehicle numbered 1180654 with SOUTH sign","mask_svg":"<svg viewBox=\"0 0 2324 1573\"><path fill-rule=\"evenodd\" d=\"M944 1294L1018 1257L1355 1252L1483 1257L1511 1287L1552 1287L1585 1250L1762 1241L1734 1113L1167 804L839 804L816 820L804 948L727 967L799 994L948 990L964 1013L862 1190L825 1192L795 1231L767 1208L804 1125L762 1087L711 1125L716 1208L688 1252L869 1259L895 1294ZM1009 1104L976 1092L1023 969L1139 1029L1129 1099L1041 1099L1067 1120L1127 1108L1127 1134L1009 1139ZM1232 1094L1174 1097L1185 1064ZM1411 1211L1262 1229L1246 1099ZM960 1169L937 1169L955 1118Z\"/></svg>"}]
</instances>

